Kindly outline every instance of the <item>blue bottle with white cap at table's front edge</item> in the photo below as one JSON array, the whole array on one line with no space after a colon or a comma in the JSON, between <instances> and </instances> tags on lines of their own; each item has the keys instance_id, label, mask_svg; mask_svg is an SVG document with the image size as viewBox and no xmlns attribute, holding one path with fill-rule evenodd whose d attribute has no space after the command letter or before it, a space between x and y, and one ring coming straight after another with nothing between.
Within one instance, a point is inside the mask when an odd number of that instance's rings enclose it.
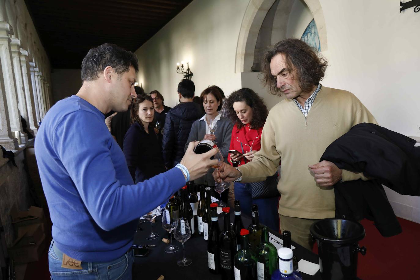
<instances>
[{"instance_id":1,"label":"blue bottle with white cap at table's front edge","mask_svg":"<svg viewBox=\"0 0 420 280\"><path fill-rule=\"evenodd\" d=\"M293 270L293 251L290 248L278 249L278 267L271 275L272 280L302 280L302 275Z\"/></svg>"}]
</instances>

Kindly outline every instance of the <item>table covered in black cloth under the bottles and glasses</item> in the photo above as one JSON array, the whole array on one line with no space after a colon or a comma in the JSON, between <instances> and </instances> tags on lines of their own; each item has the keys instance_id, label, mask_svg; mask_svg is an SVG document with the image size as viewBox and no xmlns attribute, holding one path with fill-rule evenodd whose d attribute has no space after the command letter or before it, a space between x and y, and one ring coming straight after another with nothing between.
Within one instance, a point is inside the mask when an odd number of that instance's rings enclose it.
<instances>
[{"instance_id":1,"label":"table covered in black cloth under the bottles and glasses","mask_svg":"<svg viewBox=\"0 0 420 280\"><path fill-rule=\"evenodd\" d=\"M218 215L220 230L223 230L223 214ZM234 221L234 213L231 212L231 222ZM251 219L242 214L242 222L247 228L251 224ZM146 236L150 234L150 222L141 224L143 230L137 230L134 236L134 244L149 245L155 244L156 247L151 247L149 254L146 257L135 257L133 263L133 280L157 280L160 275L165 277L165 280L220 280L220 275L213 275L209 272L207 267L207 241L197 233L192 238L185 242L185 255L192 259L192 264L187 267L180 267L176 264L178 259L182 258L182 244L172 238L173 245L179 247L175 253L165 253L164 249L168 244L162 242L162 238L169 238L168 232L162 228L161 216L156 217L156 222L153 224L153 232L158 233L159 237L154 240L147 240ZM281 237L281 234L270 230L270 233ZM293 254L300 259L305 259L309 262L318 264L318 255L303 248L292 241L292 245L296 247ZM307 275L302 273L304 280L318 280L321 279L320 272L315 275Z\"/></svg>"}]
</instances>

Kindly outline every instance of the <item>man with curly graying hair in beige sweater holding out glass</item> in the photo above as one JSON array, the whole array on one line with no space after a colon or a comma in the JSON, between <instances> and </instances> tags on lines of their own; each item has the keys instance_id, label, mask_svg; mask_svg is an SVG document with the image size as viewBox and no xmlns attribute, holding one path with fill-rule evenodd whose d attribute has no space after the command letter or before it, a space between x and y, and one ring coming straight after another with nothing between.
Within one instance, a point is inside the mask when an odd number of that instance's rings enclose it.
<instances>
[{"instance_id":1,"label":"man with curly graying hair in beige sweater holding out glass","mask_svg":"<svg viewBox=\"0 0 420 280\"><path fill-rule=\"evenodd\" d=\"M376 120L352 93L320 84L327 61L299 39L278 42L266 52L262 65L269 92L286 99L270 110L254 160L237 168L225 164L219 168L220 176L213 176L217 181L262 181L276 172L281 160L277 186L281 231L291 231L295 242L312 250L310 225L335 216L332 186L367 180L362 173L318 161L328 145L352 126Z\"/></svg>"}]
</instances>

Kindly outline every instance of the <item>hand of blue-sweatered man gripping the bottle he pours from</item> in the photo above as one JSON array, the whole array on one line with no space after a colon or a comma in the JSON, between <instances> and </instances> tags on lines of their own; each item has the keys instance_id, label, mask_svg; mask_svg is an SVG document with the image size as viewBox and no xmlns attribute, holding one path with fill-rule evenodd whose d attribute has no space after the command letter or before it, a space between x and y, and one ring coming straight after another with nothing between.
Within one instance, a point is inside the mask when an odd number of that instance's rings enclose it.
<instances>
[{"instance_id":1,"label":"hand of blue-sweatered man gripping the bottle he pours from","mask_svg":"<svg viewBox=\"0 0 420 280\"><path fill-rule=\"evenodd\" d=\"M197 146L197 144L197 141L189 143L184 157L180 162L188 169L190 181L206 175L212 165L218 164L218 160L210 160L210 157L213 157L218 152L217 148L211 149L204 154L196 154L194 153L194 147Z\"/></svg>"}]
</instances>

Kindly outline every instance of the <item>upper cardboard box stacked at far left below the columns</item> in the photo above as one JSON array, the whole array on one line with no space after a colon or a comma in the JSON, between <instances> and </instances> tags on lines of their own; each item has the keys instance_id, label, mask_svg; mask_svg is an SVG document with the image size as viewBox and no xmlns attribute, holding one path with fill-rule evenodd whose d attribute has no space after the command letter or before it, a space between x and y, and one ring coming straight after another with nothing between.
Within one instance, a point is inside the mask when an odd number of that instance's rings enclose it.
<instances>
[{"instance_id":1,"label":"upper cardboard box stacked at far left below the columns","mask_svg":"<svg viewBox=\"0 0 420 280\"><path fill-rule=\"evenodd\" d=\"M42 231L45 231L45 215L44 210L39 207L31 206L27 211L18 211L16 208L11 209L13 233L18 236L18 228L27 225L41 224Z\"/></svg>"}]
</instances>

